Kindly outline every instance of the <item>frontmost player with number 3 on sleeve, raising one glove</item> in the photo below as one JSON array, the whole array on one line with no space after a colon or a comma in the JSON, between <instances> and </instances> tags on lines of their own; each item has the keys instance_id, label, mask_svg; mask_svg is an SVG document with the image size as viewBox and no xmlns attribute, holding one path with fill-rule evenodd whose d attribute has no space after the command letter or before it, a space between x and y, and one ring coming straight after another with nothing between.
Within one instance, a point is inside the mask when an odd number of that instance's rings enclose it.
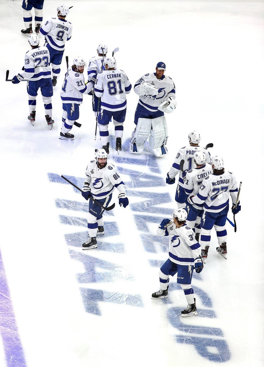
<instances>
[{"instance_id":1,"label":"frontmost player with number 3 on sleeve, raising one glove","mask_svg":"<svg viewBox=\"0 0 264 367\"><path fill-rule=\"evenodd\" d=\"M181 316L195 316L197 309L193 288L191 286L192 273L203 270L201 261L201 246L195 240L193 231L185 222L187 212L184 209L175 209L172 213L172 220L163 219L157 235L169 236L169 259L159 270L159 282L161 290L152 293L152 299L168 298L169 275L174 276L177 273L177 283L184 290L188 306L181 312Z\"/></svg>"}]
</instances>

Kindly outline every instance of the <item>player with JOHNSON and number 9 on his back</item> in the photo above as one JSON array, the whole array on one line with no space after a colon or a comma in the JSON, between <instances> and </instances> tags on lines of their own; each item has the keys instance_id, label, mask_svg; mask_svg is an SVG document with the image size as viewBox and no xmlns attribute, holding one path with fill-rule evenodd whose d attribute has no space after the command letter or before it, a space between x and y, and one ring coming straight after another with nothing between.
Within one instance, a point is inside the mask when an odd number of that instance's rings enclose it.
<instances>
[{"instance_id":1,"label":"player with JOHNSON and number 9 on his back","mask_svg":"<svg viewBox=\"0 0 264 367\"><path fill-rule=\"evenodd\" d=\"M57 84L57 77L60 74L60 64L63 57L65 42L72 36L72 23L65 18L69 13L69 8L62 4L57 8L58 18L51 18L41 26L39 32L45 36L45 46L50 52L50 62L52 65L52 85Z\"/></svg>"}]
</instances>

